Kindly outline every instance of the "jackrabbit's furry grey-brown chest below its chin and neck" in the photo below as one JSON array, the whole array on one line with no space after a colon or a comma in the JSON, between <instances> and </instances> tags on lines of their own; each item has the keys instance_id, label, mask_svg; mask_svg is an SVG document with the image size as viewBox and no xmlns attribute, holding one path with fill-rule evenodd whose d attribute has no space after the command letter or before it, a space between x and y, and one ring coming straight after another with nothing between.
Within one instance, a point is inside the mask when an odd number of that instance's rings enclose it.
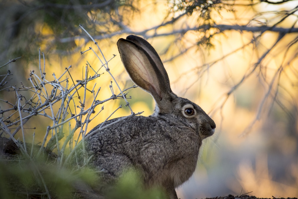
<instances>
[{"instance_id":1,"label":"jackrabbit's furry grey-brown chest below its chin and neck","mask_svg":"<svg viewBox=\"0 0 298 199\"><path fill-rule=\"evenodd\" d=\"M167 157L165 157L164 167L160 172L168 174L177 187L187 181L195 171L201 139L191 128L183 126L176 121L167 123L162 131L164 140L169 139L167 145ZM161 175L160 175L161 176Z\"/></svg>"}]
</instances>

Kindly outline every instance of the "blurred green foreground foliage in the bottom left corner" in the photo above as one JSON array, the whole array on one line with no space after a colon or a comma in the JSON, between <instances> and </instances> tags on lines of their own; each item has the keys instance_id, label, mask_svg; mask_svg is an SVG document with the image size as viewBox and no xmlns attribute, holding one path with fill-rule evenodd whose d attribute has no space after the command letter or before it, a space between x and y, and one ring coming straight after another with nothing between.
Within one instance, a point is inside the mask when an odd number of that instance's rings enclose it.
<instances>
[{"instance_id":1,"label":"blurred green foreground foliage in the bottom left corner","mask_svg":"<svg viewBox=\"0 0 298 199\"><path fill-rule=\"evenodd\" d=\"M1 160L0 198L74 198L76 182L94 186L96 179L91 169L72 172L40 159Z\"/></svg>"}]
</instances>

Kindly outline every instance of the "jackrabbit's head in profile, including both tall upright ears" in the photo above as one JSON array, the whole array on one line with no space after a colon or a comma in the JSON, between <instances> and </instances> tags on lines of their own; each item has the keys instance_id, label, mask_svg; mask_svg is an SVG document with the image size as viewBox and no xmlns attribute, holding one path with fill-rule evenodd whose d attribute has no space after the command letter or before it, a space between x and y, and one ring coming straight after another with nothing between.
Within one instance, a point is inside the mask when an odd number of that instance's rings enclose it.
<instances>
[{"instance_id":1,"label":"jackrabbit's head in profile, including both tall upright ears","mask_svg":"<svg viewBox=\"0 0 298 199\"><path fill-rule=\"evenodd\" d=\"M214 121L197 104L177 97L170 87L170 80L156 50L143 38L130 35L117 42L122 63L131 79L149 92L155 102L153 115L182 118L184 124L196 130L202 139L212 135Z\"/></svg>"}]
</instances>

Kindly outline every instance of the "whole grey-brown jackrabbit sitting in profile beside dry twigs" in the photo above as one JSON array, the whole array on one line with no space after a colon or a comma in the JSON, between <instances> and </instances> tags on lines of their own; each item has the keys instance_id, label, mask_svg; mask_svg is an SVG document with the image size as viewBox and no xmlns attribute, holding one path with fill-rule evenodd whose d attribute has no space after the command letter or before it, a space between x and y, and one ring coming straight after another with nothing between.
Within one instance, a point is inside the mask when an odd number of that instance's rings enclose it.
<instances>
[{"instance_id":1,"label":"whole grey-brown jackrabbit sitting in profile beside dry twigs","mask_svg":"<svg viewBox=\"0 0 298 199\"><path fill-rule=\"evenodd\" d=\"M91 165L110 183L134 168L145 188L160 186L169 198L177 198L175 187L195 171L202 140L213 135L215 123L201 107L172 92L162 61L147 41L130 35L117 46L131 79L153 96L156 108L148 117L127 117L92 129L85 138Z\"/></svg>"}]
</instances>

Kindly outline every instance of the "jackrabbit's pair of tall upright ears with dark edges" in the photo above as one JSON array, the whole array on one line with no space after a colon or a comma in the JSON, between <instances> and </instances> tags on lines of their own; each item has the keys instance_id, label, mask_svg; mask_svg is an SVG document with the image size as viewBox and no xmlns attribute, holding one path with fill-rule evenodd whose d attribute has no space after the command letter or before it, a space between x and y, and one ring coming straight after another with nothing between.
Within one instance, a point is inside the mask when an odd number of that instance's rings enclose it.
<instances>
[{"instance_id":1,"label":"jackrabbit's pair of tall upright ears with dark edges","mask_svg":"<svg viewBox=\"0 0 298 199\"><path fill-rule=\"evenodd\" d=\"M159 112L169 112L176 95L170 88L167 72L154 48L144 39L133 35L119 39L117 46L131 79L153 96Z\"/></svg>"}]
</instances>

